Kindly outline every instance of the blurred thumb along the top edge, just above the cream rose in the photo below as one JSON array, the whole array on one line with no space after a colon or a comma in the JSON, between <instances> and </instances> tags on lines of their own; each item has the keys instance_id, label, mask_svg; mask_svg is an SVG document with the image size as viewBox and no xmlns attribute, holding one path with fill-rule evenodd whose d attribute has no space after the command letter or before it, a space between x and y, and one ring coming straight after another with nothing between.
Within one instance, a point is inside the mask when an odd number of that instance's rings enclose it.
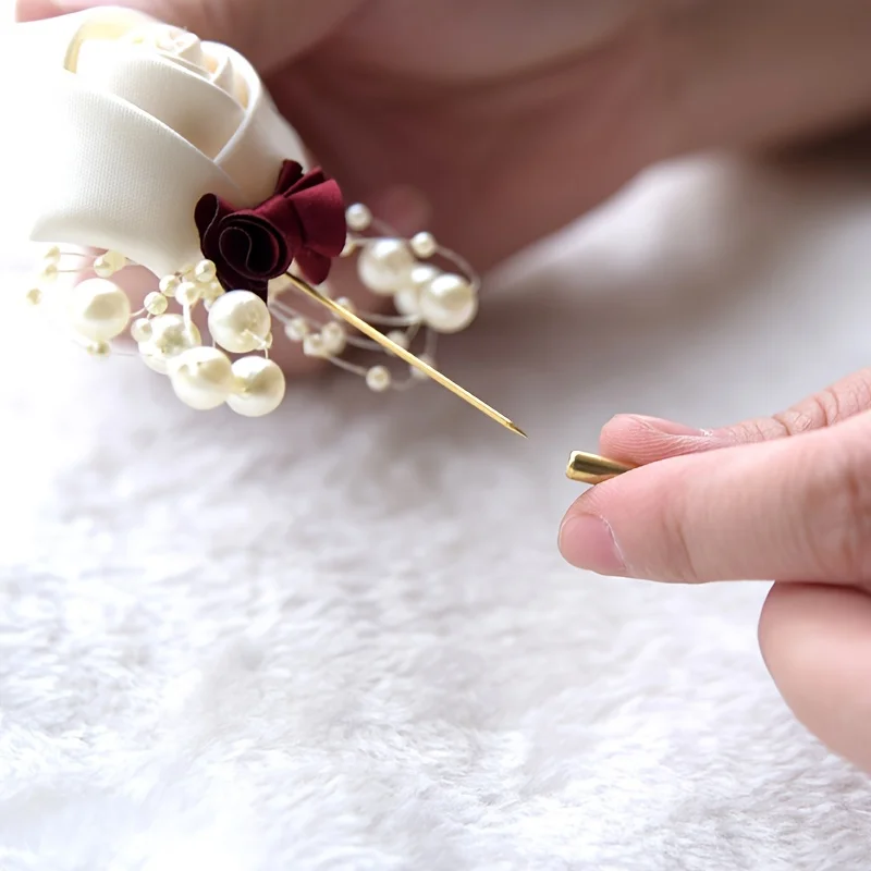
<instances>
[{"instance_id":1,"label":"blurred thumb along the top edge, just above the cream rose","mask_svg":"<svg viewBox=\"0 0 871 871\"><path fill-rule=\"evenodd\" d=\"M272 72L328 37L360 0L125 0L124 5L223 42ZM16 0L20 22L38 21L112 0Z\"/></svg>"}]
</instances>

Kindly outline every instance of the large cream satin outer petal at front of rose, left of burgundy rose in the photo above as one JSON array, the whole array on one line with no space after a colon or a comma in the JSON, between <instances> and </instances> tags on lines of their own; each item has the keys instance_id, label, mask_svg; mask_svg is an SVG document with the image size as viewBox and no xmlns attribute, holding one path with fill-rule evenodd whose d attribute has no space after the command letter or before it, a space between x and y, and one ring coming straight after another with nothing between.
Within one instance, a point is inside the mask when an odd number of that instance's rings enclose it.
<instances>
[{"instance_id":1,"label":"large cream satin outer petal at front of rose, left of burgundy rose","mask_svg":"<svg viewBox=\"0 0 871 871\"><path fill-rule=\"evenodd\" d=\"M34 242L120 250L157 275L201 257L198 199L206 193L241 197L211 160L74 74L32 83L34 96L40 111L28 119L14 161L2 167L25 181L16 186L15 177L9 180L5 205Z\"/></svg>"}]
</instances>

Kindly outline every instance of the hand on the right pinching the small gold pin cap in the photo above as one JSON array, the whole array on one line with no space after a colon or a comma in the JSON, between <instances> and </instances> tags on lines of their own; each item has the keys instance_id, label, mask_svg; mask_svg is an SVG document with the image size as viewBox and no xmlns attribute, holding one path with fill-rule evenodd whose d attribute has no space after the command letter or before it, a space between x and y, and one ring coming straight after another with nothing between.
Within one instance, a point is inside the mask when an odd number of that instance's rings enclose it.
<instances>
[{"instance_id":1,"label":"hand on the right pinching the small gold pin cap","mask_svg":"<svg viewBox=\"0 0 871 871\"><path fill-rule=\"evenodd\" d=\"M871 772L871 370L712 432L616 417L601 451L641 467L569 510L568 562L666 582L777 578L759 627L774 682Z\"/></svg>"}]
</instances>

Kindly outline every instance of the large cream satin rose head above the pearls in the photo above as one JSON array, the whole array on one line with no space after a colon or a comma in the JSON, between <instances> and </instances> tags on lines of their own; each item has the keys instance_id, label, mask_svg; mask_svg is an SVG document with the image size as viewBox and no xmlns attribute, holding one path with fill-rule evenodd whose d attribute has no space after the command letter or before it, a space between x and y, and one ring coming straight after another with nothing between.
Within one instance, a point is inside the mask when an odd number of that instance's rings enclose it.
<instances>
[{"instance_id":1,"label":"large cream satin rose head above the pearls","mask_svg":"<svg viewBox=\"0 0 871 871\"><path fill-rule=\"evenodd\" d=\"M303 147L241 54L140 13L98 8L8 28L14 131L4 208L34 242L119 250L158 275L200 259L194 209L273 193Z\"/></svg>"}]
</instances>

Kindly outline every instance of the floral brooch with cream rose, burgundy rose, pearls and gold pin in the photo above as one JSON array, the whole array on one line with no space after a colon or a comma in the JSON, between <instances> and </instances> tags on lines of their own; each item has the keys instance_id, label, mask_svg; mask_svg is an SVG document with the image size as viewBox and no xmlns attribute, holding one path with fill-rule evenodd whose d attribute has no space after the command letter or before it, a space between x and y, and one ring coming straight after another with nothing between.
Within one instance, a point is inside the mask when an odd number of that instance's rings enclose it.
<instances>
[{"instance_id":1,"label":"floral brooch with cream rose, burgundy rose, pearls and gold pin","mask_svg":"<svg viewBox=\"0 0 871 871\"><path fill-rule=\"evenodd\" d=\"M430 233L398 236L306 169L242 56L116 8L13 30L19 75L32 83L22 99L50 119L7 161L27 177L29 237L48 246L25 298L59 315L89 354L130 339L192 408L259 417L285 394L273 344L292 342L373 392L434 380L523 434L436 368L438 336L478 312L478 275ZM47 161L46 143L58 142L62 155ZM339 258L354 258L363 286L393 311L334 299ZM136 310L131 266L155 277ZM366 352L382 361L366 365Z\"/></svg>"}]
</instances>

